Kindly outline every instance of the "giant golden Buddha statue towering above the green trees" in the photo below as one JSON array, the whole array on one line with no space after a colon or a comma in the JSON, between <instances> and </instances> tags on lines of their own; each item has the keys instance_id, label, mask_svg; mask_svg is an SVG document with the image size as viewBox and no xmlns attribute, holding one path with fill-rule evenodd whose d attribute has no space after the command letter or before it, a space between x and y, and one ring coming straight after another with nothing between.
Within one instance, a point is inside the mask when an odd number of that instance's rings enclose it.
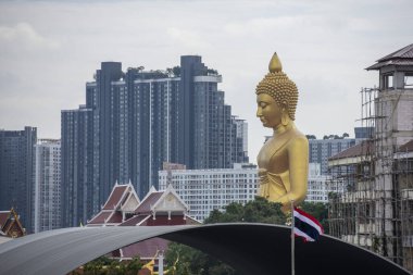
<instances>
[{"instance_id":1,"label":"giant golden Buddha statue towering above the green trees","mask_svg":"<svg viewBox=\"0 0 413 275\"><path fill-rule=\"evenodd\" d=\"M270 73L256 86L256 116L264 127L273 128L256 158L260 189L258 196L283 204L288 212L291 201L299 204L306 196L309 174L309 141L293 123L298 90L283 73L276 53L270 62Z\"/></svg>"}]
</instances>

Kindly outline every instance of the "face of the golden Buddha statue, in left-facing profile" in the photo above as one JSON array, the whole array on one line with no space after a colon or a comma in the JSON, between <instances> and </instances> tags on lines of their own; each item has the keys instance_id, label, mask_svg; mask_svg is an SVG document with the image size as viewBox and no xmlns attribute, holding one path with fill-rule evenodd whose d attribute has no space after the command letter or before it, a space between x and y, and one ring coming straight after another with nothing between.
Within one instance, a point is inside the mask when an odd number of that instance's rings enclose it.
<instances>
[{"instance_id":1,"label":"face of the golden Buddha statue, in left-facing profile","mask_svg":"<svg viewBox=\"0 0 413 275\"><path fill-rule=\"evenodd\" d=\"M281 123L283 112L273 97L266 93L256 96L256 116L264 127L275 128Z\"/></svg>"}]
</instances>

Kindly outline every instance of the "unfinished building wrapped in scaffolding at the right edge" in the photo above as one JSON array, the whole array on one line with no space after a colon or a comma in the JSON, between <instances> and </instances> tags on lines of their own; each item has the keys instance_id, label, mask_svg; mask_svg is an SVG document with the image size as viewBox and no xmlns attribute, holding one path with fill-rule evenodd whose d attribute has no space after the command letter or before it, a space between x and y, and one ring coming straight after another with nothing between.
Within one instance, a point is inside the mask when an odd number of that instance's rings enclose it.
<instances>
[{"instance_id":1,"label":"unfinished building wrapped in scaffolding at the right edge","mask_svg":"<svg viewBox=\"0 0 413 275\"><path fill-rule=\"evenodd\" d=\"M366 70L378 88L361 90L361 143L329 159L333 236L362 246L413 271L413 45Z\"/></svg>"}]
</instances>

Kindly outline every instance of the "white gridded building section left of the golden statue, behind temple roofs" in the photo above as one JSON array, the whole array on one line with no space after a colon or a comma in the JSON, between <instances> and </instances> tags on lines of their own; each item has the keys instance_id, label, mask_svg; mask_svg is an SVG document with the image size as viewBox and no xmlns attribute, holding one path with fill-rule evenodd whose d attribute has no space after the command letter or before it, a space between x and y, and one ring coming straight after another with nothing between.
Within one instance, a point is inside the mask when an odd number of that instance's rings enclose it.
<instances>
[{"instance_id":1,"label":"white gridded building section left of the golden statue, behind temple roofs","mask_svg":"<svg viewBox=\"0 0 413 275\"><path fill-rule=\"evenodd\" d=\"M189 215L203 221L214 209L222 211L231 202L245 204L253 200L258 168L236 163L234 168L160 171L160 189L166 189L170 183L189 205Z\"/></svg>"}]
</instances>

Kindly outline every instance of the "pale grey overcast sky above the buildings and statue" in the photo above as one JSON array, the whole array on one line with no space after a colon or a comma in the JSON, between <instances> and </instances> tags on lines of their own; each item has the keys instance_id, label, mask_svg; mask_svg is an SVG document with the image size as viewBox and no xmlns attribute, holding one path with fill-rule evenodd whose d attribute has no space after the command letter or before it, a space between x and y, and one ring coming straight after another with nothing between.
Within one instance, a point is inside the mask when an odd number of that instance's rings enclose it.
<instances>
[{"instance_id":1,"label":"pale grey overcast sky above the buildings and statue","mask_svg":"<svg viewBox=\"0 0 413 275\"><path fill-rule=\"evenodd\" d=\"M299 88L298 128L353 137L360 90L378 79L364 68L413 43L412 11L412 0L0 1L0 128L60 138L61 110L85 103L100 62L164 70L199 54L248 122L254 162L272 134L254 89L277 51Z\"/></svg>"}]
</instances>

